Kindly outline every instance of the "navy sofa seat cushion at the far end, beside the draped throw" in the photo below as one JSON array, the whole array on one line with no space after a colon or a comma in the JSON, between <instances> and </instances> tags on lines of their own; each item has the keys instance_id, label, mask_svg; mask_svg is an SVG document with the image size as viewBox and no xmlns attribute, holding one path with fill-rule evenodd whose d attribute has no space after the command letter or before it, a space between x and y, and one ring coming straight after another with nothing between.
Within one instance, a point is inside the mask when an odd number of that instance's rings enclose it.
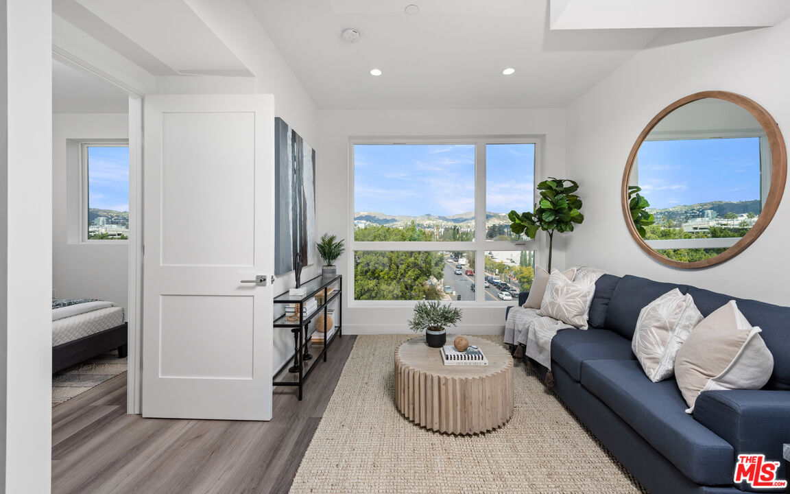
<instances>
[{"instance_id":1,"label":"navy sofa seat cushion at the far end, beside the draped throw","mask_svg":"<svg viewBox=\"0 0 790 494\"><path fill-rule=\"evenodd\" d=\"M585 360L634 358L631 342L612 331L568 328L551 340L551 360L577 381Z\"/></svg>"}]
</instances>

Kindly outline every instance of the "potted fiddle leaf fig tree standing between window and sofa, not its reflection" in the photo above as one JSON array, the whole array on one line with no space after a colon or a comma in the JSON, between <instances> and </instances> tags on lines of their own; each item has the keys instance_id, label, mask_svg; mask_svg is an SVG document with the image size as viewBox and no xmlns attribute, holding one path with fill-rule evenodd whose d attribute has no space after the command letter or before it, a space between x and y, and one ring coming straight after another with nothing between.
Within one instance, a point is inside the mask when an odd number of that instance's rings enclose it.
<instances>
[{"instance_id":1,"label":"potted fiddle leaf fig tree standing between window and sofa, not its reflection","mask_svg":"<svg viewBox=\"0 0 790 494\"><path fill-rule=\"evenodd\" d=\"M548 269L551 273L551 248L554 242L555 232L573 232L574 223L580 224L585 221L581 209L581 199L574 194L579 188L579 184L570 179L555 179L549 177L548 180L538 184L540 190L540 201L532 213L516 213L510 211L507 217L510 219L510 229L519 235L524 233L530 239L534 239L538 230L548 233Z\"/></svg>"}]
</instances>

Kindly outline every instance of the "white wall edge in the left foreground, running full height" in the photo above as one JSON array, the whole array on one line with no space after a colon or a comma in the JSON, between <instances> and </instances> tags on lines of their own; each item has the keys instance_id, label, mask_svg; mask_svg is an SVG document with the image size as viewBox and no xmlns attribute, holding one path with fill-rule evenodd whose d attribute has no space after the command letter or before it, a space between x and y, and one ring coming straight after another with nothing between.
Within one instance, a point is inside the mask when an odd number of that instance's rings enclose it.
<instances>
[{"instance_id":1,"label":"white wall edge in the left foreground, running full height","mask_svg":"<svg viewBox=\"0 0 790 494\"><path fill-rule=\"evenodd\" d=\"M50 492L52 26L0 0L0 492Z\"/></svg>"}]
</instances>

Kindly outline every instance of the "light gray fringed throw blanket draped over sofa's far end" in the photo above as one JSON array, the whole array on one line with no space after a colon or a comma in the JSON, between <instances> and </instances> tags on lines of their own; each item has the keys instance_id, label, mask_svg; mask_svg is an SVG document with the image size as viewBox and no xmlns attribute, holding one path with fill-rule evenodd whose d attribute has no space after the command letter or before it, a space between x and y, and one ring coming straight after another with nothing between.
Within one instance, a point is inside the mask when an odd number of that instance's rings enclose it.
<instances>
[{"instance_id":1,"label":"light gray fringed throw blanket draped over sofa's far end","mask_svg":"<svg viewBox=\"0 0 790 494\"><path fill-rule=\"evenodd\" d=\"M574 276L574 283L583 282L594 285L599 277L606 271L590 266L579 266ZM587 311L589 312L588 301ZM566 322L558 321L547 316L537 315L537 309L513 307L510 309L505 322L504 341L510 345L519 345L513 356L521 356L520 351L538 364L548 369L545 384L554 385L554 375L551 374L551 340L559 330L570 328Z\"/></svg>"}]
</instances>

